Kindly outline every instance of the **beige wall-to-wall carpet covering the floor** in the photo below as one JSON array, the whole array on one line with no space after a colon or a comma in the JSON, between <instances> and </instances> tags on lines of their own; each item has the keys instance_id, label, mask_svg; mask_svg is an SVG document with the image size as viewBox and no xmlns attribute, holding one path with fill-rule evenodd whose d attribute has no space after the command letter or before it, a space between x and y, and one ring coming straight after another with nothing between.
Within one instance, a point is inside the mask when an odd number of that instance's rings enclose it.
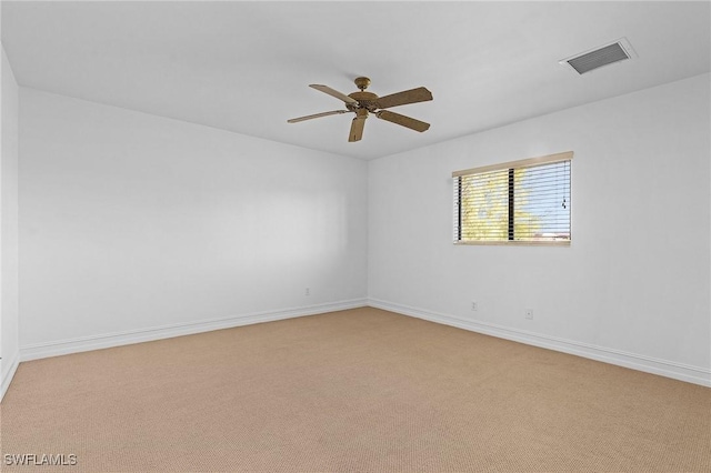
<instances>
[{"instance_id":1,"label":"beige wall-to-wall carpet covering the floor","mask_svg":"<svg viewBox=\"0 0 711 473\"><path fill-rule=\"evenodd\" d=\"M711 389L357 309L22 363L1 435L9 472L709 472Z\"/></svg>"}]
</instances>

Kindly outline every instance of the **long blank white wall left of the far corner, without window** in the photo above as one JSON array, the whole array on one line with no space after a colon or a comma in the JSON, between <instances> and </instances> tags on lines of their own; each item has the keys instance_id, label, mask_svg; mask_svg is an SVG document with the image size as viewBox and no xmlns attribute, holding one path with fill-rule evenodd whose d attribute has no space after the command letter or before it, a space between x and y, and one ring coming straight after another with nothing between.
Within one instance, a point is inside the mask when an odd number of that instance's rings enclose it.
<instances>
[{"instance_id":1,"label":"long blank white wall left of the far corner, without window","mask_svg":"<svg viewBox=\"0 0 711 473\"><path fill-rule=\"evenodd\" d=\"M364 305L367 162L20 100L23 359Z\"/></svg>"}]
</instances>

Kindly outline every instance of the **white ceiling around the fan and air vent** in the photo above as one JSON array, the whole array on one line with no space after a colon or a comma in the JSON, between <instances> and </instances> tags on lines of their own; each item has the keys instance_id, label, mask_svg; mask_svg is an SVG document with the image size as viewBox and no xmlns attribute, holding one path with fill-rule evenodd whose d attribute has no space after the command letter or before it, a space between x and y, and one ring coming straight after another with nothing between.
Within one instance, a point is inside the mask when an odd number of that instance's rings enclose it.
<instances>
[{"instance_id":1,"label":"white ceiling around the fan and air vent","mask_svg":"<svg viewBox=\"0 0 711 473\"><path fill-rule=\"evenodd\" d=\"M373 159L709 72L701 2L12 2L2 43L20 85ZM625 37L638 58L578 76L559 60ZM308 88L379 95L418 133L352 115ZM660 111L662 113L663 111Z\"/></svg>"}]
</instances>

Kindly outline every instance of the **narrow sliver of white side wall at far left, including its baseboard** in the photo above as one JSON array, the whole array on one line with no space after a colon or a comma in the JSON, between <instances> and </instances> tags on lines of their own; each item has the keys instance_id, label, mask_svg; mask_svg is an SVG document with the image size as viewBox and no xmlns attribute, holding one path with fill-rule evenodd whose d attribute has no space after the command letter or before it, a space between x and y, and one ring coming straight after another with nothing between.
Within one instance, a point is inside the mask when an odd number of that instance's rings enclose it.
<instances>
[{"instance_id":1,"label":"narrow sliver of white side wall at far left, including its baseboard","mask_svg":"<svg viewBox=\"0 0 711 473\"><path fill-rule=\"evenodd\" d=\"M18 84L2 49L0 158L0 400L19 363Z\"/></svg>"}]
</instances>

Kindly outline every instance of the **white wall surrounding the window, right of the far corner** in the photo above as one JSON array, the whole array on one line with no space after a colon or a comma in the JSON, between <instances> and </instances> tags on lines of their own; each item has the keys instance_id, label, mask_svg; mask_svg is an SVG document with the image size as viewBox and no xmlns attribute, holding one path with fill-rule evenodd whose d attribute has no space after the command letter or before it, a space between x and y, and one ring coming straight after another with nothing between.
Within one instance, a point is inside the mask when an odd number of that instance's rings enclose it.
<instances>
[{"instance_id":1,"label":"white wall surrounding the window, right of the far corner","mask_svg":"<svg viewBox=\"0 0 711 473\"><path fill-rule=\"evenodd\" d=\"M711 385L709 84L371 161L371 304ZM570 248L452 244L452 171L569 150Z\"/></svg>"}]
</instances>

